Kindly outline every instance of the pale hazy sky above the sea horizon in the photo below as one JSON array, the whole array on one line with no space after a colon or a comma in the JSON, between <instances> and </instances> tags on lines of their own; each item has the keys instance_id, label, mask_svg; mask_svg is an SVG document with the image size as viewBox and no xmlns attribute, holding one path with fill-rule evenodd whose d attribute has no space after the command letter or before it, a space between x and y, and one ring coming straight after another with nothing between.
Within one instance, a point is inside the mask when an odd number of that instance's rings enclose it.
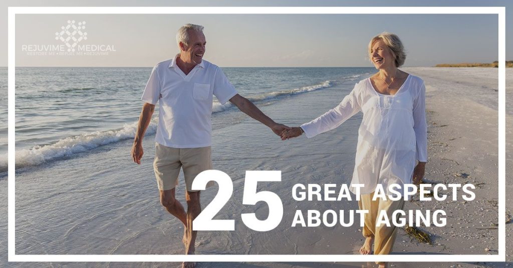
<instances>
[{"instance_id":1,"label":"pale hazy sky above the sea horizon","mask_svg":"<svg viewBox=\"0 0 513 268\"><path fill-rule=\"evenodd\" d=\"M220 1L215 6L506 6L507 1ZM147 1L147 6L211 6L211 2ZM7 6L140 6L130 1L23 1ZM5 14L7 8L5 7ZM89 49L111 48L102 55L52 55L48 46L64 48L55 33L68 20L86 22ZM371 67L367 45L383 31L399 35L407 50L405 66L443 63L490 63L498 59L498 15L494 14L18 14L16 66L152 67L179 49L176 30L186 24L205 26L205 59L221 67ZM7 16L0 22L7 36ZM506 59L512 55L506 27ZM65 36L66 37L66 36ZM70 42L69 42L70 43ZM46 47L44 47L46 46ZM7 38L0 42L7 52ZM35 48L30 53L28 48ZM37 48L39 50L37 50ZM78 48L77 48L78 49ZM41 52L43 50L44 52ZM32 51L34 52L34 51ZM57 51L58 52L58 51ZM0 56L7 66L7 53Z\"/></svg>"}]
</instances>

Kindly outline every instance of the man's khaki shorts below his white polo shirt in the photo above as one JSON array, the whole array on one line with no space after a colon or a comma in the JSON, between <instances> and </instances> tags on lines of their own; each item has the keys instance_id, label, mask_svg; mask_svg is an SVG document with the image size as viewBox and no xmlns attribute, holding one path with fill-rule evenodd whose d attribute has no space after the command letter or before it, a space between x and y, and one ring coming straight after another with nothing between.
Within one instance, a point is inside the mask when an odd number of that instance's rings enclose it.
<instances>
[{"instance_id":1,"label":"man's khaki shorts below his white polo shirt","mask_svg":"<svg viewBox=\"0 0 513 268\"><path fill-rule=\"evenodd\" d=\"M198 190L191 191L192 181L202 171L212 169L210 146L179 149L155 143L153 170L159 190L171 190L178 185L180 168L184 170L187 191L198 192ZM206 188L213 184L213 181L209 181Z\"/></svg>"}]
</instances>

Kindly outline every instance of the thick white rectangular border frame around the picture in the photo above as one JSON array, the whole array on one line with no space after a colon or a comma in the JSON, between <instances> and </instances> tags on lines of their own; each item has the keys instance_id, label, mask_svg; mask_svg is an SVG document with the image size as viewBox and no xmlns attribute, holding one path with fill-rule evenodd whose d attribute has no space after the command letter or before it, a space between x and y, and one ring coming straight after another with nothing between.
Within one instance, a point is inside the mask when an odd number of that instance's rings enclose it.
<instances>
[{"instance_id":1,"label":"thick white rectangular border frame around the picture","mask_svg":"<svg viewBox=\"0 0 513 268\"><path fill-rule=\"evenodd\" d=\"M181 262L482 262L506 260L505 248L505 7L9 7L8 8L8 261ZM499 20L499 246L498 255L16 255L14 188L14 71L16 14L498 14ZM502 187L499 187L499 185ZM436 259L435 259L436 258Z\"/></svg>"}]
</instances>

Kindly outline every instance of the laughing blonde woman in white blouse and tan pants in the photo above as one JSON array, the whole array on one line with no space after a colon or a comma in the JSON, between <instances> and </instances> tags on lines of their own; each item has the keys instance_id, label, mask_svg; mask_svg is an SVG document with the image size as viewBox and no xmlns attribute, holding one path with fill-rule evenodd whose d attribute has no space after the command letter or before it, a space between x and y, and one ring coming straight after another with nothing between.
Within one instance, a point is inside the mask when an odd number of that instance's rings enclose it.
<instances>
[{"instance_id":1,"label":"laughing blonde woman in white blouse and tan pants","mask_svg":"<svg viewBox=\"0 0 513 268\"><path fill-rule=\"evenodd\" d=\"M389 219L404 201L372 200L377 184L388 195L388 185L419 183L427 161L427 126L424 81L398 69L406 53L395 34L381 33L370 40L369 58L379 71L361 80L340 104L314 120L282 132L282 139L305 133L308 138L340 126L352 115L363 112L358 131L356 163L351 184L364 184L359 207L368 210L361 254L389 254L397 229L376 226L376 217L385 210ZM354 193L354 189L351 189ZM380 267L387 263L378 262Z\"/></svg>"}]
</instances>

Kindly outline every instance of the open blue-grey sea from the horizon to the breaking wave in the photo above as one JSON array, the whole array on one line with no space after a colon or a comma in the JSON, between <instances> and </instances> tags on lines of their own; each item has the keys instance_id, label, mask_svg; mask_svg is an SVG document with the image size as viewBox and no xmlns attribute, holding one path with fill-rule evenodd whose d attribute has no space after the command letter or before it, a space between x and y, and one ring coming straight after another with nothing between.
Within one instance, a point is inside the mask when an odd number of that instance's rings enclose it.
<instances>
[{"instance_id":1,"label":"open blue-grey sea from the horizon to the breaking wave","mask_svg":"<svg viewBox=\"0 0 513 268\"><path fill-rule=\"evenodd\" d=\"M350 85L373 68L223 68L257 106ZM2 69L7 73L7 69ZM74 157L132 139L151 68L16 68L16 169ZM4 77L5 77L4 76ZM214 98L215 99L215 98ZM7 92L0 102L7 108ZM158 110L158 105L156 107ZM212 128L234 120L230 102L213 103ZM0 178L7 171L7 109L0 109ZM147 135L156 131L156 112ZM277 118L279 120L280 118Z\"/></svg>"}]
</instances>

